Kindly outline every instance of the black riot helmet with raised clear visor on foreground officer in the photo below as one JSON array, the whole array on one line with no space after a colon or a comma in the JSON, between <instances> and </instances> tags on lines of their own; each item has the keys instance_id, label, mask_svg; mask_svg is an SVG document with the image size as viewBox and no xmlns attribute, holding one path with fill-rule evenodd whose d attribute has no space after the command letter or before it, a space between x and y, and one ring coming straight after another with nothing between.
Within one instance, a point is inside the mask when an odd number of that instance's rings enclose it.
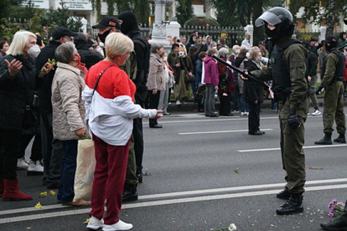
<instances>
[{"instance_id":1,"label":"black riot helmet with raised clear visor on foreground officer","mask_svg":"<svg viewBox=\"0 0 347 231\"><path fill-rule=\"evenodd\" d=\"M268 28L268 24L275 26L274 30ZM273 7L260 15L255 20L255 26L265 25L265 33L272 41L281 37L290 37L294 33L293 15L284 7Z\"/></svg>"}]
</instances>

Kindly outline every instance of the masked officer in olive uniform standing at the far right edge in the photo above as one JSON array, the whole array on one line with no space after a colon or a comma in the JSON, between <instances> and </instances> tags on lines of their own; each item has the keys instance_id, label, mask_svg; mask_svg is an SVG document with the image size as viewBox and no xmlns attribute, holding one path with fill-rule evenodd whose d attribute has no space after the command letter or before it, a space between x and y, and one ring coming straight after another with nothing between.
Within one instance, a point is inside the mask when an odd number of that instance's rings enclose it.
<instances>
[{"instance_id":1,"label":"masked officer in olive uniform standing at the far right edge","mask_svg":"<svg viewBox=\"0 0 347 231\"><path fill-rule=\"evenodd\" d=\"M344 53L337 50L338 38L328 36L325 42L325 48L328 52L323 62L324 77L321 81L321 87L324 87L324 112L323 126L324 137L315 141L315 144L332 144L331 135L333 133L334 119L339 137L334 139L337 143L346 143L346 117L344 112Z\"/></svg>"}]
</instances>

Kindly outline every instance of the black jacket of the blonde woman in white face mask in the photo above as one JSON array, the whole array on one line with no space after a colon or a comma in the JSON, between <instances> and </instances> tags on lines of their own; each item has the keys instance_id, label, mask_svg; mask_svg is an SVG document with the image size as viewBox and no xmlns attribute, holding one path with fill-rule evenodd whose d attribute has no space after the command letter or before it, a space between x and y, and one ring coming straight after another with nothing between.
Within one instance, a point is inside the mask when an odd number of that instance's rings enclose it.
<instances>
[{"instance_id":1,"label":"black jacket of the blonde woman in white face mask","mask_svg":"<svg viewBox=\"0 0 347 231\"><path fill-rule=\"evenodd\" d=\"M23 63L17 75L8 75L7 64L14 58ZM0 129L20 130L26 106L33 103L36 85L35 59L22 55L4 56L0 59Z\"/></svg>"}]
</instances>

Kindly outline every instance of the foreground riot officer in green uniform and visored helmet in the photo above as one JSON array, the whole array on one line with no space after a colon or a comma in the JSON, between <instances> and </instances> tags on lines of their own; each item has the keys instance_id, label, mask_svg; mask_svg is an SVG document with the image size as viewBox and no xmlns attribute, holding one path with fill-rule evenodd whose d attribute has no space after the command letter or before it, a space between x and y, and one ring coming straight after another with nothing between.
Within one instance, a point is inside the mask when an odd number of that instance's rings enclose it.
<instances>
[{"instance_id":1,"label":"foreground riot officer in green uniform and visored helmet","mask_svg":"<svg viewBox=\"0 0 347 231\"><path fill-rule=\"evenodd\" d=\"M252 71L255 77L274 81L272 90L279 104L281 128L281 154L286 171L285 189L277 194L287 202L276 210L277 214L301 213L305 184L304 122L307 118L307 81L305 78L307 50L299 40L291 39L293 17L283 7L273 7L256 21L265 25L270 37L269 68Z\"/></svg>"}]
</instances>

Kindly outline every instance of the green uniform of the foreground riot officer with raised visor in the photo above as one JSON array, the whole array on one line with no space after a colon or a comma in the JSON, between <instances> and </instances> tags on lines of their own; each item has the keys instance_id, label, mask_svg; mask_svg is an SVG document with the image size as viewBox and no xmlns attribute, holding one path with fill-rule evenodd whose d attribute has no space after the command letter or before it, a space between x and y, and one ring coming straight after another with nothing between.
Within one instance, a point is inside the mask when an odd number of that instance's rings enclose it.
<instances>
[{"instance_id":1,"label":"green uniform of the foreground riot officer with raised visor","mask_svg":"<svg viewBox=\"0 0 347 231\"><path fill-rule=\"evenodd\" d=\"M281 46L289 38L281 39ZM290 93L287 100L279 102L279 119L281 128L281 155L283 169L286 171L286 188L293 194L304 192L305 184L305 155L304 122L307 118L307 81L305 78L307 51L301 44L290 45L283 54L283 59L289 69ZM273 79L271 63L268 69L252 71L252 74L264 81ZM288 124L289 109L295 108L301 125L293 129Z\"/></svg>"}]
</instances>

